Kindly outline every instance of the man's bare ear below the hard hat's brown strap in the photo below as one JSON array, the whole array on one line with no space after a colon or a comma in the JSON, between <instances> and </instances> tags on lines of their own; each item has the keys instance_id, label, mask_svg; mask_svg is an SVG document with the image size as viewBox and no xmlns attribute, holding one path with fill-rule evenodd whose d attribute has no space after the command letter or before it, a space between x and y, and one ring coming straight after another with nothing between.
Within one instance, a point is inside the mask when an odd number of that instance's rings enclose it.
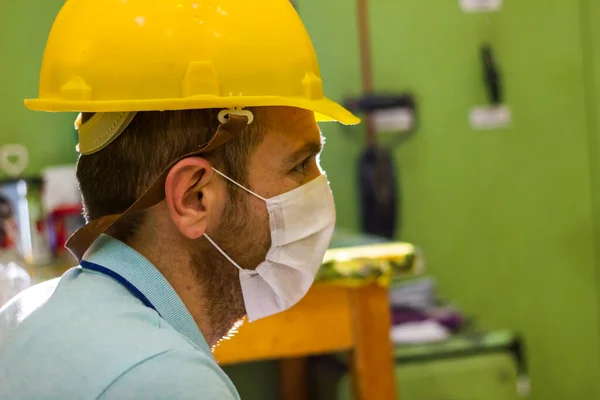
<instances>
[{"instance_id":1,"label":"man's bare ear below the hard hat's brown strap","mask_svg":"<svg viewBox=\"0 0 600 400\"><path fill-rule=\"evenodd\" d=\"M169 171L165 181L165 200L171 220L181 234L197 239L206 232L207 210L215 203L214 171L201 157L181 160Z\"/></svg>"}]
</instances>

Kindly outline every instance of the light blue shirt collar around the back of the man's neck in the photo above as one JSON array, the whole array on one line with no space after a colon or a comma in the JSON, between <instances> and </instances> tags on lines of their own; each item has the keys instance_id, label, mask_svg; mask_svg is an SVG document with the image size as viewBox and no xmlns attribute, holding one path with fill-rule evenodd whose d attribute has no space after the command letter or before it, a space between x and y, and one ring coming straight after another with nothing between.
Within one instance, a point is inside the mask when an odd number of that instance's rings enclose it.
<instances>
[{"instance_id":1,"label":"light blue shirt collar around the back of the man's neck","mask_svg":"<svg viewBox=\"0 0 600 400\"><path fill-rule=\"evenodd\" d=\"M175 289L140 253L113 237L101 235L83 259L121 275L146 296L162 318L177 332L211 353L198 325Z\"/></svg>"}]
</instances>

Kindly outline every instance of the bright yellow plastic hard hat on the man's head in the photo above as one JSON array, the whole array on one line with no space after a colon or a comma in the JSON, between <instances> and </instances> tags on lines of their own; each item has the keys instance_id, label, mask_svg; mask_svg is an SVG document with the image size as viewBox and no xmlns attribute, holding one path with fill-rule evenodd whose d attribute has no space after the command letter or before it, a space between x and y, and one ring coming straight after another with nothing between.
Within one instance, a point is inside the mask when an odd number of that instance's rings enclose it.
<instances>
[{"instance_id":1,"label":"bright yellow plastic hard hat on the man's head","mask_svg":"<svg viewBox=\"0 0 600 400\"><path fill-rule=\"evenodd\" d=\"M290 106L358 118L323 95L290 0L67 0L42 63L40 111Z\"/></svg>"}]
</instances>

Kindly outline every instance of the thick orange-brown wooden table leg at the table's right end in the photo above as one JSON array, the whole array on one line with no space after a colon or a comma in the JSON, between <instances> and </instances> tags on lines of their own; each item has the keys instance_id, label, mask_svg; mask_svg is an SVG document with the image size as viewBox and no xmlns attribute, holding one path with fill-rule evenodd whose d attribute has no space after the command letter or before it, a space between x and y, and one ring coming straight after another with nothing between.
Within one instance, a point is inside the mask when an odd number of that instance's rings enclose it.
<instances>
[{"instance_id":1,"label":"thick orange-brown wooden table leg at the table's right end","mask_svg":"<svg viewBox=\"0 0 600 400\"><path fill-rule=\"evenodd\" d=\"M352 377L356 400L396 400L388 290L351 289L355 346Z\"/></svg>"}]
</instances>

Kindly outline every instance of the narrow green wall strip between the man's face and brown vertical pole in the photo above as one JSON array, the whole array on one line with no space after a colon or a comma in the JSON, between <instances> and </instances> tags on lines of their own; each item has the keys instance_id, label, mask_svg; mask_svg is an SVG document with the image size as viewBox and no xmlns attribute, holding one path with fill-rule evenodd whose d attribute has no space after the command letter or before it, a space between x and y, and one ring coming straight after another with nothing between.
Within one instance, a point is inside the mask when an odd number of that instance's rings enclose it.
<instances>
[{"instance_id":1,"label":"narrow green wall strip between the man's face and brown vertical pole","mask_svg":"<svg viewBox=\"0 0 600 400\"><path fill-rule=\"evenodd\" d=\"M325 94L338 102L361 93L356 8L352 0L298 0L297 9L317 51ZM359 230L355 185L362 126L323 123L326 138L321 163L336 196L338 222Z\"/></svg>"}]
</instances>

